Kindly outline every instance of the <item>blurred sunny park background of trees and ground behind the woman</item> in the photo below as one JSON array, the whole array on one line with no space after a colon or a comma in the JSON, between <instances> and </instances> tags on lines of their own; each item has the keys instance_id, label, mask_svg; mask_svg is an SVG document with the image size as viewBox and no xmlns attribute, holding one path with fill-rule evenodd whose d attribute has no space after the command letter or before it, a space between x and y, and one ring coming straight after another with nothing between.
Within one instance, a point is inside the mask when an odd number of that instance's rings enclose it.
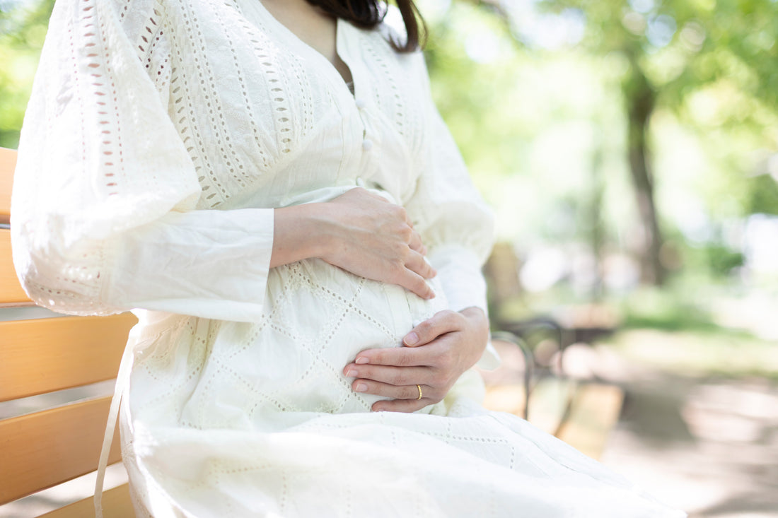
<instances>
[{"instance_id":1,"label":"blurred sunny park background of trees and ground behind the woman","mask_svg":"<svg viewBox=\"0 0 778 518\"><path fill-rule=\"evenodd\" d=\"M605 464L691 516L778 516L778 2L417 3L497 215L492 327L623 390ZM0 146L52 4L0 0Z\"/></svg>"}]
</instances>

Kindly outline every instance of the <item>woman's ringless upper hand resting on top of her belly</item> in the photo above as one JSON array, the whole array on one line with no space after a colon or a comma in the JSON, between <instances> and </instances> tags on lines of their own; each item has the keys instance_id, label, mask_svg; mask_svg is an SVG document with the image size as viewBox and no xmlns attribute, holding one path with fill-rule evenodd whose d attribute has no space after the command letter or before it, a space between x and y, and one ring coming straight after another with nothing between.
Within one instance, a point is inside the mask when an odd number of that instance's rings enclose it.
<instances>
[{"instance_id":1,"label":"woman's ringless upper hand resting on top of her belly","mask_svg":"<svg viewBox=\"0 0 778 518\"><path fill-rule=\"evenodd\" d=\"M400 285L423 299L436 271L405 208L361 187L323 204L321 259L361 277Z\"/></svg>"}]
</instances>

